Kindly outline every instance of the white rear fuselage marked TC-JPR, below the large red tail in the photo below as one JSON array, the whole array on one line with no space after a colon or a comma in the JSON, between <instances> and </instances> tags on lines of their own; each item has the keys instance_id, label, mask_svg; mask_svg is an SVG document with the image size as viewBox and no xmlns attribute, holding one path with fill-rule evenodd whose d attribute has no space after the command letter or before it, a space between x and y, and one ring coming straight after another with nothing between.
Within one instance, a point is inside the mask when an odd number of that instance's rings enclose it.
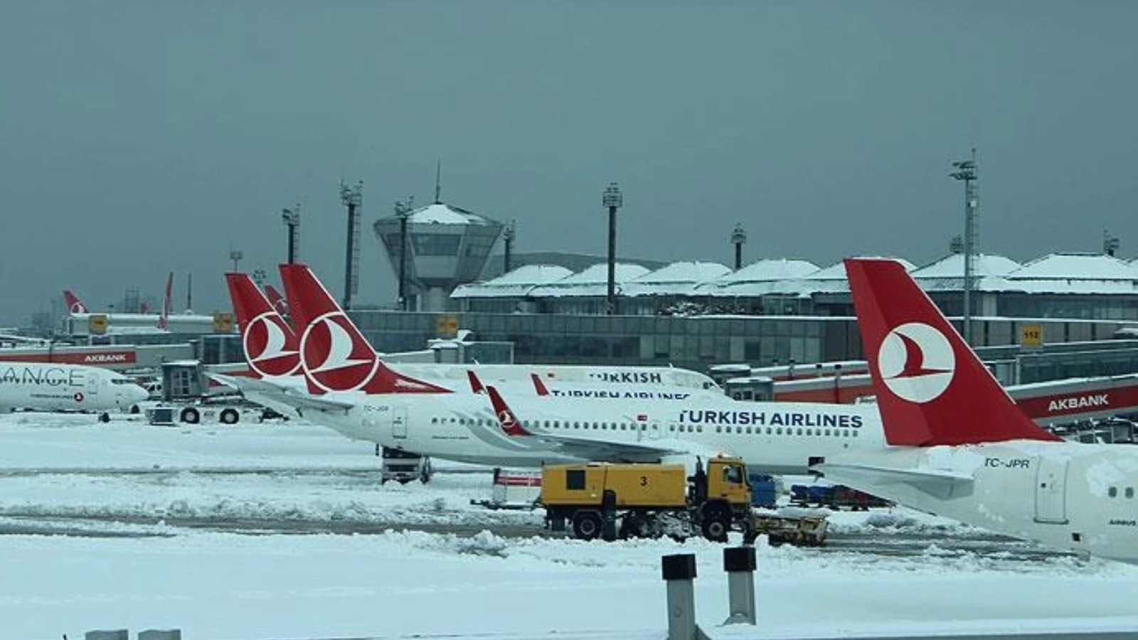
<instances>
[{"instance_id":1,"label":"white rear fuselage marked TC-JPR, below the large red tail","mask_svg":"<svg viewBox=\"0 0 1138 640\"><path fill-rule=\"evenodd\" d=\"M834 459L835 462L844 460ZM867 479L841 469L826 478L907 507L1049 547L1138 563L1138 449L1122 444L1009 441L891 448L858 465L972 477L949 497L921 483ZM856 476L856 477L855 477ZM869 476L872 477L872 476ZM882 476L884 478L884 476Z\"/></svg>"}]
</instances>

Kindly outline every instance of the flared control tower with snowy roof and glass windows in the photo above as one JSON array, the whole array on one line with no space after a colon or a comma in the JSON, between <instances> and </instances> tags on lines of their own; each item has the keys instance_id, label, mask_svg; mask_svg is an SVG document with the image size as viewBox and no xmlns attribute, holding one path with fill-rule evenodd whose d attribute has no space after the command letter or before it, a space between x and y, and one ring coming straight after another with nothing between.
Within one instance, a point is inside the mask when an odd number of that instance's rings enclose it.
<instances>
[{"instance_id":1,"label":"flared control tower with snowy roof and glass windows","mask_svg":"<svg viewBox=\"0 0 1138 640\"><path fill-rule=\"evenodd\" d=\"M502 227L442 202L420 208L396 203L395 215L372 225L387 248L396 279L403 273L407 311L446 311L451 292L483 272Z\"/></svg>"}]
</instances>

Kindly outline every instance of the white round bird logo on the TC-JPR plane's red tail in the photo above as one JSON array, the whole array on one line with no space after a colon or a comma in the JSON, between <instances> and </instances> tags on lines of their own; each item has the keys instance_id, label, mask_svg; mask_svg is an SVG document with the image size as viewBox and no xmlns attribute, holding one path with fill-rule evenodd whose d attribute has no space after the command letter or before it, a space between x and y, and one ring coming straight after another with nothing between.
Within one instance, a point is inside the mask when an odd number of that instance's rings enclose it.
<instances>
[{"instance_id":1,"label":"white round bird logo on the TC-JPR plane's red tail","mask_svg":"<svg viewBox=\"0 0 1138 640\"><path fill-rule=\"evenodd\" d=\"M953 381L956 354L943 334L908 322L885 335L877 350L877 371L893 395L925 403L940 397Z\"/></svg>"}]
</instances>

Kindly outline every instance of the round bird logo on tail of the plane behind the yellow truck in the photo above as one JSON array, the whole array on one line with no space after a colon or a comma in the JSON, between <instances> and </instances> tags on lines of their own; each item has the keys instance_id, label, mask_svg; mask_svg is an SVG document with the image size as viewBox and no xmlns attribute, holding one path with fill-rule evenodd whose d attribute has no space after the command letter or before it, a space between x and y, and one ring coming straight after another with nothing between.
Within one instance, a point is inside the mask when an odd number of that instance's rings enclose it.
<instances>
[{"instance_id":1,"label":"round bird logo on tail of the plane behind the yellow truck","mask_svg":"<svg viewBox=\"0 0 1138 640\"><path fill-rule=\"evenodd\" d=\"M305 328L300 366L308 379L324 391L355 391L376 374L379 359L369 345L355 344L351 320L335 311Z\"/></svg>"}]
</instances>

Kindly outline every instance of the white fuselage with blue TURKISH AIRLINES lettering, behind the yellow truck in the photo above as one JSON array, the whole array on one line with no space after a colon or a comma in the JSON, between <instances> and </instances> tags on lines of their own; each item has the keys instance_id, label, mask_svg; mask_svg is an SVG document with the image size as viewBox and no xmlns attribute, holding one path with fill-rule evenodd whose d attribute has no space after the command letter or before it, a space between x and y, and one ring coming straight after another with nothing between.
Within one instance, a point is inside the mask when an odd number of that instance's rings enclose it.
<instances>
[{"instance_id":1,"label":"white fuselage with blue TURKISH AIRLINES lettering, behind the yellow truck","mask_svg":"<svg viewBox=\"0 0 1138 640\"><path fill-rule=\"evenodd\" d=\"M346 412L307 409L305 419L384 446L484 465L579 460L559 453L549 440L506 435L483 395L348 392L322 397L354 407ZM754 403L718 395L692 402L516 397L510 407L533 433L725 452L774 474L805 473L817 461L811 459L884 446L872 405Z\"/></svg>"}]
</instances>

